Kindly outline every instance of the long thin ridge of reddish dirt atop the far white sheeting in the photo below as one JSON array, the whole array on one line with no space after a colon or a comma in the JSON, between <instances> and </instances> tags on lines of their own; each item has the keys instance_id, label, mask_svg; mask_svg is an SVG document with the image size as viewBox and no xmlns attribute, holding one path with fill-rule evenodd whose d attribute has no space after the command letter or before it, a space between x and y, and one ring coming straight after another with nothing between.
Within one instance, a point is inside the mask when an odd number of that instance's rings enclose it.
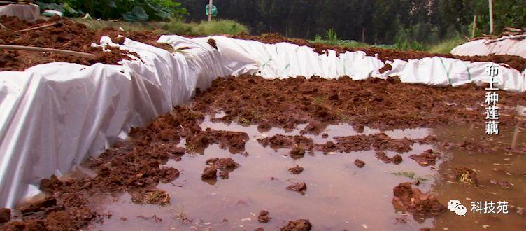
<instances>
[{"instance_id":1,"label":"long thin ridge of reddish dirt atop the far white sheeting","mask_svg":"<svg viewBox=\"0 0 526 231\"><path fill-rule=\"evenodd\" d=\"M488 55L488 56L457 56L457 55L450 55L450 54L437 54L437 53L429 53L429 52L421 52L421 51L401 51L401 50L392 50L392 49L382 49L382 48L346 48L344 46L339 45L325 45L321 43L310 43L304 39L299 38L285 38L283 36L280 36L280 34L262 34L260 36L249 36L247 34L237 34L236 36L233 36L233 38L239 38L239 39L247 39L247 40L255 40L260 41L262 43L269 43L269 44L276 44L276 43L292 43L296 45L306 45L308 47L313 48L315 52L318 52L320 55L326 55L328 54L327 50L335 50L337 54L343 53L346 51L349 52L355 52L355 51L363 51L368 56L377 57L381 61L392 61L394 59L401 59L401 60L408 60L408 59L422 59L425 57L446 57L446 58L453 58L453 59L460 59L464 61L469 62L495 62L495 63L504 63L508 64L514 69L517 69L518 71L523 71L526 69L526 59L520 56L515 55ZM385 67L385 69L381 69L381 73L383 71L387 71L390 69L390 67Z\"/></svg>"}]
</instances>

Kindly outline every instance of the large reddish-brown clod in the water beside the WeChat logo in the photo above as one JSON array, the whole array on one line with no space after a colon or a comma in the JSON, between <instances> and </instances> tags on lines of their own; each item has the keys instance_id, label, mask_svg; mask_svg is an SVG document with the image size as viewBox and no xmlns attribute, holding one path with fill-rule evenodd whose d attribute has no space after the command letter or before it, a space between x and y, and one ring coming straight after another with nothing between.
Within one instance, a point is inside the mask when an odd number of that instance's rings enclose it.
<instances>
[{"instance_id":1,"label":"large reddish-brown clod in the water beside the WeChat logo","mask_svg":"<svg viewBox=\"0 0 526 231\"><path fill-rule=\"evenodd\" d=\"M400 183L393 189L392 204L399 211L409 212L417 217L429 217L441 214L446 207L429 193L413 188L411 183Z\"/></svg>"}]
</instances>

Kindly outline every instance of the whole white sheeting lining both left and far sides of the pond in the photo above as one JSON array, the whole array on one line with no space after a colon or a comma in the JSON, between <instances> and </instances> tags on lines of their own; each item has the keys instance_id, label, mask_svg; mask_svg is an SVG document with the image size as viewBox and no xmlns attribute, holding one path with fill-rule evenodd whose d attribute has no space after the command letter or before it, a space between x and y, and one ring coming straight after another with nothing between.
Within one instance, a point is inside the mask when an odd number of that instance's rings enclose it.
<instances>
[{"instance_id":1,"label":"whole white sheeting lining both left and far sides of the pond","mask_svg":"<svg viewBox=\"0 0 526 231\"><path fill-rule=\"evenodd\" d=\"M218 76L348 75L361 80L397 75L405 83L428 85L488 82L485 62L394 60L391 71L380 73L383 62L364 52L336 57L334 51L318 55L287 43L212 38L218 50L206 43L208 38L162 36L159 42L177 50L170 53L129 39L117 45L103 37L101 45L136 52L140 59L122 65L50 63L0 72L0 207L13 207L39 193L41 179L71 171L125 139L130 127L146 125L173 105L189 102L197 87L206 89ZM504 90L525 90L521 73L500 70Z\"/></svg>"}]
</instances>

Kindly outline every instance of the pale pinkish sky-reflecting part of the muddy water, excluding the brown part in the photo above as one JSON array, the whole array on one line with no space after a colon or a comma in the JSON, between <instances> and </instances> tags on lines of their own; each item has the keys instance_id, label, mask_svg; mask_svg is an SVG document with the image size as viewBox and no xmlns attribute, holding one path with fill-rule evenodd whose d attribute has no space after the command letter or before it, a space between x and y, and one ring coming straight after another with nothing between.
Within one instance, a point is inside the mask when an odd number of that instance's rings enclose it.
<instances>
[{"instance_id":1,"label":"pale pinkish sky-reflecting part of the muddy water, excluding the brown part","mask_svg":"<svg viewBox=\"0 0 526 231\"><path fill-rule=\"evenodd\" d=\"M431 145L414 144L412 150L401 153L404 161L399 165L385 164L375 157L375 151L334 153L324 155L315 151L306 153L304 158L292 159L290 149L273 150L264 148L257 139L275 134L297 135L306 125L285 132L272 128L259 132L256 125L243 127L231 123L212 123L207 118L201 127L213 130L246 132L250 137L245 151L248 156L231 154L214 144L204 154L185 154L180 161L169 160L166 166L180 170L175 181L159 184L157 188L170 194L171 204L141 205L131 202L130 195L107 198L100 206L103 212L112 216L92 229L101 230L278 230L290 220L306 218L313 224L313 230L418 230L432 227L433 219L414 221L413 216L397 214L394 210L392 190L399 183L413 181L406 176L393 173L413 172L415 177L425 178L422 191L431 189L437 170L421 167L408 158L432 148ZM429 135L429 129L394 130L385 132L394 138L404 136L411 139ZM326 138L322 133L327 133ZM365 128L365 134L378 130ZM315 143L334 141L336 136L358 134L346 124L329 125L319 135L305 134ZM180 142L184 146L185 141ZM385 152L389 157L396 153ZM232 158L240 167L230 172L229 179L203 181L201 173L207 167L209 158ZM366 164L362 169L353 162L359 158ZM300 165L301 174L291 174L288 168ZM305 182L304 195L286 190L292 183ZM269 223L257 221L261 210L269 211ZM405 222L401 222L405 221Z\"/></svg>"}]
</instances>

